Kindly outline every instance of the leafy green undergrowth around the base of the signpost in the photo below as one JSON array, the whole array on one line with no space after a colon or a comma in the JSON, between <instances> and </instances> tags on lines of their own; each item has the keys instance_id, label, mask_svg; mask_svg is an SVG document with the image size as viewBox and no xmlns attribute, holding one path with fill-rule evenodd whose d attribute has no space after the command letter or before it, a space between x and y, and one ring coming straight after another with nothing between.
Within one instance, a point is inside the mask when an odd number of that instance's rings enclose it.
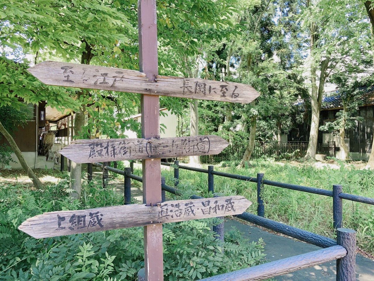
<instances>
[{"instance_id":1,"label":"leafy green undergrowth around the base of the signpost","mask_svg":"<svg viewBox=\"0 0 374 281\"><path fill-rule=\"evenodd\" d=\"M120 194L99 184L83 185L82 202L68 197L69 191L66 178L45 191L0 187L0 280L137 280L144 267L142 227L46 239L17 229L43 212L123 204ZM166 280L197 280L263 261L263 241L249 242L231 230L221 245L211 231L218 223L211 219L163 226Z\"/></svg>"}]
</instances>

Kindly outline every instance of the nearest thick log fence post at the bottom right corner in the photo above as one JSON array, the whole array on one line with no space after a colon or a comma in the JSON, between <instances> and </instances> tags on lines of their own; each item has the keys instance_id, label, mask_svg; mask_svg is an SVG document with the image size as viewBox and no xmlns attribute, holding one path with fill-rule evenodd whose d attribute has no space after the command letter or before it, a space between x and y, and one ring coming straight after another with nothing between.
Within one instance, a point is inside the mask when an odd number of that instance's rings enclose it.
<instances>
[{"instance_id":1,"label":"nearest thick log fence post at the bottom right corner","mask_svg":"<svg viewBox=\"0 0 374 281\"><path fill-rule=\"evenodd\" d=\"M347 256L336 260L336 281L356 280L356 232L352 229L336 230L337 244L347 250Z\"/></svg>"}]
</instances>

